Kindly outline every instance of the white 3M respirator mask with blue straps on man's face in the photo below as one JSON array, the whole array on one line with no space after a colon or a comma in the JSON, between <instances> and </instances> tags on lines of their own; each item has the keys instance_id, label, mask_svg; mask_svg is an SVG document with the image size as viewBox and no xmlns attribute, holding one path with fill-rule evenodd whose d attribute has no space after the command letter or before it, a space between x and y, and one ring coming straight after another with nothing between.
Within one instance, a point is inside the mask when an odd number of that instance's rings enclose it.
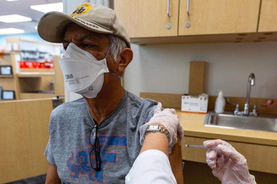
<instances>
[{"instance_id":1,"label":"white 3M respirator mask with blue straps on man's face","mask_svg":"<svg viewBox=\"0 0 277 184\"><path fill-rule=\"evenodd\" d=\"M113 37L111 38L112 41ZM111 42L106 54L110 50ZM78 93L87 98L94 98L104 82L104 73L108 70L106 57L98 61L91 53L70 43L59 60L68 91ZM117 74L114 74L118 76ZM118 76L121 78L120 76Z\"/></svg>"}]
</instances>

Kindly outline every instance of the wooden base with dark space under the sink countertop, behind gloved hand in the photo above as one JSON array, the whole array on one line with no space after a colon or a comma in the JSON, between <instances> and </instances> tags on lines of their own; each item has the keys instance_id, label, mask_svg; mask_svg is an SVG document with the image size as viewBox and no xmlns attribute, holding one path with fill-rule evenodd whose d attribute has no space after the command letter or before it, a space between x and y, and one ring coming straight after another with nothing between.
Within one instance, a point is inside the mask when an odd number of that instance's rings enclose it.
<instances>
[{"instance_id":1,"label":"wooden base with dark space under the sink countertop, behind gloved hand","mask_svg":"<svg viewBox=\"0 0 277 184\"><path fill-rule=\"evenodd\" d=\"M203 145L206 140L210 139L185 136L181 144ZM255 176L257 183L273 184L277 181L277 146L226 141L245 156L250 174ZM207 149L182 147L184 183L221 183L212 175L212 169L206 163L206 151Z\"/></svg>"}]
</instances>

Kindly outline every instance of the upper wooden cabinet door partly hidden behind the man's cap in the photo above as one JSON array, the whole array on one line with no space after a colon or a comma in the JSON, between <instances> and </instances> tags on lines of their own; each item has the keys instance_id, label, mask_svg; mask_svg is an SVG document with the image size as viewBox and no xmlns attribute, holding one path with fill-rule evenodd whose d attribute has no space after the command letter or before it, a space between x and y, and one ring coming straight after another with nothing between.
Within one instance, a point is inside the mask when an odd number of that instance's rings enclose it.
<instances>
[{"instance_id":1,"label":"upper wooden cabinet door partly hidden behind the man's cap","mask_svg":"<svg viewBox=\"0 0 277 184\"><path fill-rule=\"evenodd\" d=\"M115 0L114 9L130 38L177 36L179 0Z\"/></svg>"}]
</instances>

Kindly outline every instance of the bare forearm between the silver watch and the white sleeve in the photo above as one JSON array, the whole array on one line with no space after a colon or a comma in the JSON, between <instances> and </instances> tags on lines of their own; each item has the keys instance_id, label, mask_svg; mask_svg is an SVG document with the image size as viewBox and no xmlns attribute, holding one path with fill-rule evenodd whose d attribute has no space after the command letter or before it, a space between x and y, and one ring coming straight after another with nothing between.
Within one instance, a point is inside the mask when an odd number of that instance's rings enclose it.
<instances>
[{"instance_id":1,"label":"bare forearm between the silver watch and the white sleeve","mask_svg":"<svg viewBox=\"0 0 277 184\"><path fill-rule=\"evenodd\" d=\"M168 157L168 148L168 138L166 135L159 132L149 133L144 138L140 154L146 150L159 150L164 152L164 154Z\"/></svg>"}]
</instances>

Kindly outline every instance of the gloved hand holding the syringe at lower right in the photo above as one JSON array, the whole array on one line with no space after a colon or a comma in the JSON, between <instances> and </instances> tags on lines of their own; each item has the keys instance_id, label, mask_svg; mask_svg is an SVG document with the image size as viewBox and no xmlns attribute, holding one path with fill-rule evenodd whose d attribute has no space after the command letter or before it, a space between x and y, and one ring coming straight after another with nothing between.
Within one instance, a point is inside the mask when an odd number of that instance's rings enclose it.
<instances>
[{"instance_id":1,"label":"gloved hand holding the syringe at lower right","mask_svg":"<svg viewBox=\"0 0 277 184\"><path fill-rule=\"evenodd\" d=\"M210 148L206 152L207 164L222 184L256 184L255 177L249 173L246 158L231 144L216 139L204 141L203 145Z\"/></svg>"}]
</instances>

